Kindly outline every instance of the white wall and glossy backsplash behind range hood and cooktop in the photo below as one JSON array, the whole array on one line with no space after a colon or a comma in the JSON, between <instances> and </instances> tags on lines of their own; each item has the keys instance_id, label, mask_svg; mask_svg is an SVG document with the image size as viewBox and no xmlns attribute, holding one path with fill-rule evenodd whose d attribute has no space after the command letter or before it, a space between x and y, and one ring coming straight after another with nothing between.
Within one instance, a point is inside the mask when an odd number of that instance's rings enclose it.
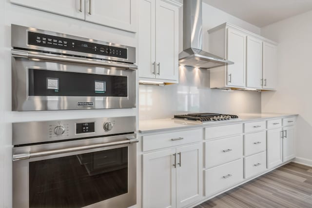
<instances>
[{"instance_id":1,"label":"white wall and glossy backsplash behind range hood and cooktop","mask_svg":"<svg viewBox=\"0 0 312 208\"><path fill-rule=\"evenodd\" d=\"M179 51L183 49L183 7L179 15ZM208 29L224 22L260 34L260 28L203 3L203 49L208 51ZM164 87L139 86L139 119L171 118L177 113L259 113L261 93L211 89L205 69L180 67L179 84Z\"/></svg>"}]
</instances>

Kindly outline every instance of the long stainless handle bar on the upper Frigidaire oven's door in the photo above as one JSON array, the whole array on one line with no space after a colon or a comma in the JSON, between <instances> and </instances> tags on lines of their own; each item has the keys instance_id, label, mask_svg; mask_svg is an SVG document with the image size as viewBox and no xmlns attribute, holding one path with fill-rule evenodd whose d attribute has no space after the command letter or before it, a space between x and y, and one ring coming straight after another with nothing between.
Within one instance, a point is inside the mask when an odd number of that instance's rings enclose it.
<instances>
[{"instance_id":1,"label":"long stainless handle bar on the upper Frigidaire oven's door","mask_svg":"<svg viewBox=\"0 0 312 208\"><path fill-rule=\"evenodd\" d=\"M51 61L59 61L59 62L73 62L73 63L82 63L82 64L90 64L90 65L99 65L99 66L107 66L107 67L117 67L117 68L125 68L136 70L137 65L135 64L127 64L127 63L112 63L112 62L104 62L104 61L93 61L87 58L74 58L63 55L46 55L40 52L25 52L12 49L12 57L17 58L26 58L26 59L42 59L42 60L51 60Z\"/></svg>"}]
</instances>

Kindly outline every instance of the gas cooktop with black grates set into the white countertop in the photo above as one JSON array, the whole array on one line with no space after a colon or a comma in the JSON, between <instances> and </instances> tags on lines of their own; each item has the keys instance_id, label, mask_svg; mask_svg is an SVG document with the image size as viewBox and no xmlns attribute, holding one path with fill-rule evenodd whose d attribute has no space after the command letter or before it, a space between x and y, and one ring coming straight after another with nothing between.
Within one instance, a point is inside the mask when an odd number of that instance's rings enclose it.
<instances>
[{"instance_id":1,"label":"gas cooktop with black grates set into the white countertop","mask_svg":"<svg viewBox=\"0 0 312 208\"><path fill-rule=\"evenodd\" d=\"M195 121L198 123L207 123L215 121L237 120L237 115L228 115L220 113L190 113L184 115L175 115L175 119L183 119L187 121Z\"/></svg>"}]
</instances>

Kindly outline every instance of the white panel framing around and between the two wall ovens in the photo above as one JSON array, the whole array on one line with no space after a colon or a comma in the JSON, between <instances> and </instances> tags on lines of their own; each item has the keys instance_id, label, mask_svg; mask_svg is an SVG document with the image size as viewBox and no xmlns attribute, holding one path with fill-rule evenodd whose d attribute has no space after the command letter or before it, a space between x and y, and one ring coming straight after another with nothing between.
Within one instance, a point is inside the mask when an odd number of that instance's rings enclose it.
<instances>
[{"instance_id":1,"label":"white panel framing around and between the two wall ovens","mask_svg":"<svg viewBox=\"0 0 312 208\"><path fill-rule=\"evenodd\" d=\"M11 111L11 24L137 47L137 35L0 1L0 207L12 207L12 123L110 116L136 116L137 108L65 111ZM4 36L4 38L2 37ZM2 47L4 44L4 48ZM4 65L2 64L4 60ZM4 125L2 123L4 122ZM3 174L3 176L2 176Z\"/></svg>"}]
</instances>

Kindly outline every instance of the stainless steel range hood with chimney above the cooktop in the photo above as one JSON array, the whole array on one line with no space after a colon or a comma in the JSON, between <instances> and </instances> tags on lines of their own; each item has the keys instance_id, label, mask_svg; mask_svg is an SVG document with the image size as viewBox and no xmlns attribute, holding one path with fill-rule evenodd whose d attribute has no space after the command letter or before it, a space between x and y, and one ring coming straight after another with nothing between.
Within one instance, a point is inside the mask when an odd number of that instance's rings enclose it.
<instances>
[{"instance_id":1,"label":"stainless steel range hood with chimney above the cooktop","mask_svg":"<svg viewBox=\"0 0 312 208\"><path fill-rule=\"evenodd\" d=\"M205 69L234 64L202 50L202 0L183 2L183 51L179 64Z\"/></svg>"}]
</instances>

